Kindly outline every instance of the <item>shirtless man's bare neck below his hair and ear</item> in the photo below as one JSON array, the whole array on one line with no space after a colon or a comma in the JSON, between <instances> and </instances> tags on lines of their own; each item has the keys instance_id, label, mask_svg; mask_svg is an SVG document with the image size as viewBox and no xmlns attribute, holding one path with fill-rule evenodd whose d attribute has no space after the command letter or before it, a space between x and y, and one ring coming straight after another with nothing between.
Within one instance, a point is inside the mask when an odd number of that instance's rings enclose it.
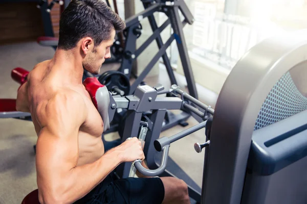
<instances>
[{"instance_id":1,"label":"shirtless man's bare neck below his hair and ear","mask_svg":"<svg viewBox=\"0 0 307 204\"><path fill-rule=\"evenodd\" d=\"M80 54L77 55L75 50L56 49L54 57L51 60L51 66L59 69L61 73L67 76L67 80L70 83L82 84L82 58Z\"/></svg>"}]
</instances>

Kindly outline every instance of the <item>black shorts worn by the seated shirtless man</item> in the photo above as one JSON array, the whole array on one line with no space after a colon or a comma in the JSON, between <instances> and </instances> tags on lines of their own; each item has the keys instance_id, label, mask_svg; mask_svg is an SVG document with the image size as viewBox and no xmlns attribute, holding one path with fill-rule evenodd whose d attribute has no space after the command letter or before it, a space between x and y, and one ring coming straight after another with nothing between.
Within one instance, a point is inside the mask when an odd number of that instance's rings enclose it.
<instances>
[{"instance_id":1,"label":"black shorts worn by the seated shirtless man","mask_svg":"<svg viewBox=\"0 0 307 204\"><path fill-rule=\"evenodd\" d=\"M160 204L163 199L164 186L159 177L116 180L111 173L75 204Z\"/></svg>"}]
</instances>

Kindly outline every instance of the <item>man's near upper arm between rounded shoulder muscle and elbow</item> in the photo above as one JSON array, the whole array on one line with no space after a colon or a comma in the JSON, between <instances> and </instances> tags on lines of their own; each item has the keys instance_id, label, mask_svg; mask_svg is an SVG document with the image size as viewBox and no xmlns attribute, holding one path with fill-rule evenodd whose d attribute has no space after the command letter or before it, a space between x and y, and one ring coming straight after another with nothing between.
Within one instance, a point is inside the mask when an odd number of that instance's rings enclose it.
<instances>
[{"instance_id":1,"label":"man's near upper arm between rounded shoulder muscle and elbow","mask_svg":"<svg viewBox=\"0 0 307 204\"><path fill-rule=\"evenodd\" d=\"M60 185L65 175L75 167L78 158L76 142L73 138L54 135L48 127L41 129L36 143L36 172L39 189L49 192Z\"/></svg>"}]
</instances>

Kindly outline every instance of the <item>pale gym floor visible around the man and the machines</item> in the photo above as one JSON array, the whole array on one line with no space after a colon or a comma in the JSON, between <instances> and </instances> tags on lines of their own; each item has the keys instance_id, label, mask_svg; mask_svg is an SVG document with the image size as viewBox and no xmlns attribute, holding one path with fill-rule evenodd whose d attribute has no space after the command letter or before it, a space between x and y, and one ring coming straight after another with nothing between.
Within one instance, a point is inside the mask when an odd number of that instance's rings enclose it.
<instances>
[{"instance_id":1,"label":"pale gym floor visible around the man and the machines","mask_svg":"<svg viewBox=\"0 0 307 204\"><path fill-rule=\"evenodd\" d=\"M36 42L18 43L0 46L0 98L16 98L19 85L11 79L11 70L23 67L31 70L35 64L51 59L54 49L42 47ZM117 69L120 64L104 64L101 72ZM193 70L194 74L197 70ZM185 79L176 74L178 84L184 87ZM160 83L170 87L167 72L160 66L159 77L144 80L148 85ZM214 108L217 95L197 85L199 99ZM164 131L160 136L177 134L197 124L192 117L187 120L188 126L177 125ZM21 203L21 200L37 188L35 171L35 154L33 145L37 136L32 122L12 118L0 119L0 204ZM105 136L106 140L119 138L117 133ZM172 158L200 187L202 185L204 152L196 153L195 142L205 142L204 130L195 132L171 144L169 156Z\"/></svg>"}]
</instances>

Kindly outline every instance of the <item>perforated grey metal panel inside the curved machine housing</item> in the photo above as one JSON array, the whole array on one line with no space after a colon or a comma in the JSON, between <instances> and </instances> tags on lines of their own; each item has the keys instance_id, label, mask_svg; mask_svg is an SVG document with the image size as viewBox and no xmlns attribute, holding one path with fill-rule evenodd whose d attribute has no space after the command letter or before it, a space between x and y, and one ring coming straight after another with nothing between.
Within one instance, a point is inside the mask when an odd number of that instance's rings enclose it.
<instances>
[{"instance_id":1,"label":"perforated grey metal panel inside the curved machine housing","mask_svg":"<svg viewBox=\"0 0 307 204\"><path fill-rule=\"evenodd\" d=\"M274 85L258 114L254 130L307 110L307 98L296 88L289 72Z\"/></svg>"}]
</instances>

